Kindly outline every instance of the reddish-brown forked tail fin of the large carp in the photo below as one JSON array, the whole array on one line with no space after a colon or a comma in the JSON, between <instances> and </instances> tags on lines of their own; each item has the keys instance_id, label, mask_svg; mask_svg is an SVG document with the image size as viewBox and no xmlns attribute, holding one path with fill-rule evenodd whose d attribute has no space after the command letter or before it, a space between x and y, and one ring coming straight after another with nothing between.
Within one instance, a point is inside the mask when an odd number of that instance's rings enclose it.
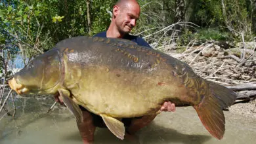
<instances>
[{"instance_id":1,"label":"reddish-brown forked tail fin of the large carp","mask_svg":"<svg viewBox=\"0 0 256 144\"><path fill-rule=\"evenodd\" d=\"M225 131L223 109L234 103L236 93L219 84L207 83L210 90L198 105L194 105L194 109L206 130L217 139L222 139Z\"/></svg>"}]
</instances>

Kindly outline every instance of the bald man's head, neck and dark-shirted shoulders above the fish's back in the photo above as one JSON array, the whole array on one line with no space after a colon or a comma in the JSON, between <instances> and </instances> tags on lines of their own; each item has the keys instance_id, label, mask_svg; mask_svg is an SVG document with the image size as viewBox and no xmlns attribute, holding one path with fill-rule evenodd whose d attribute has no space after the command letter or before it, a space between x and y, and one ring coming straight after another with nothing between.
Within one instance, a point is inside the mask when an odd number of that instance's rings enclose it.
<instances>
[{"instance_id":1,"label":"bald man's head, neck and dark-shirted shoulders above the fish's back","mask_svg":"<svg viewBox=\"0 0 256 144\"><path fill-rule=\"evenodd\" d=\"M95 35L95 37L112 37L129 39L138 45L150 45L140 37L129 35L140 16L140 6L137 1L133 0L119 0L113 7L113 16L110 26L107 31L103 31Z\"/></svg>"}]
</instances>

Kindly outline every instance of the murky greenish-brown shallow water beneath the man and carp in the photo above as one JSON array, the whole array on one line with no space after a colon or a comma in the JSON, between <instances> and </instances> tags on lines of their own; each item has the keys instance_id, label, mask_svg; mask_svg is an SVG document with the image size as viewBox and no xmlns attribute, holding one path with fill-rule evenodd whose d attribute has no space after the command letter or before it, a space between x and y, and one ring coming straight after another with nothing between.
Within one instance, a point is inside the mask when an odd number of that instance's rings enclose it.
<instances>
[{"instance_id":1,"label":"murky greenish-brown shallow water beneath the man and carp","mask_svg":"<svg viewBox=\"0 0 256 144\"><path fill-rule=\"evenodd\" d=\"M65 108L47 114L53 99L19 99L16 117L0 115L1 144L81 144L75 118ZM11 105L11 104L9 104ZM11 108L10 108L11 109ZM237 113L224 112L226 132L221 141L212 137L192 107L178 107L175 113L161 113L140 130L133 140L117 139L106 129L96 129L97 143L256 143L256 120Z\"/></svg>"}]
</instances>

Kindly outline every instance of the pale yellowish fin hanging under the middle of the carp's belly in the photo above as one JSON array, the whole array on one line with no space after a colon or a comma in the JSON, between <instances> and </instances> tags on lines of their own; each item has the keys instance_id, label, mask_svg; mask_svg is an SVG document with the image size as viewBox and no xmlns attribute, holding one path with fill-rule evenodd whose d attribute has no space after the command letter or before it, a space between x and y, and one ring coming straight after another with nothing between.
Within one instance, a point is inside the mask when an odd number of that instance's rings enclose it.
<instances>
[{"instance_id":1,"label":"pale yellowish fin hanging under the middle of the carp's belly","mask_svg":"<svg viewBox=\"0 0 256 144\"><path fill-rule=\"evenodd\" d=\"M125 126L123 122L103 114L100 114L100 117L102 117L108 129L116 135L116 137L123 139L123 136L125 135Z\"/></svg>"}]
</instances>

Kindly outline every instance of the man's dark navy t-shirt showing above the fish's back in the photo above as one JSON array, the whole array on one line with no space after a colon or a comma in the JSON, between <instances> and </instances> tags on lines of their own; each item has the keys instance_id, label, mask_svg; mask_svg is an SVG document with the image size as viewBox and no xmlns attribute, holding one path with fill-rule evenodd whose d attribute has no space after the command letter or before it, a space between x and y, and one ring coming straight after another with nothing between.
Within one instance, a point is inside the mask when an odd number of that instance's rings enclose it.
<instances>
[{"instance_id":1,"label":"man's dark navy t-shirt showing above the fish's back","mask_svg":"<svg viewBox=\"0 0 256 144\"><path fill-rule=\"evenodd\" d=\"M106 31L97 33L93 37L106 37ZM146 41L144 39L142 39L141 37L135 36L135 35L127 34L127 35L125 35L125 37L123 37L123 39L128 39L128 40L131 40L131 41L137 43L140 46L146 46L146 47L151 48L151 46L148 43L146 43Z\"/></svg>"}]
</instances>

